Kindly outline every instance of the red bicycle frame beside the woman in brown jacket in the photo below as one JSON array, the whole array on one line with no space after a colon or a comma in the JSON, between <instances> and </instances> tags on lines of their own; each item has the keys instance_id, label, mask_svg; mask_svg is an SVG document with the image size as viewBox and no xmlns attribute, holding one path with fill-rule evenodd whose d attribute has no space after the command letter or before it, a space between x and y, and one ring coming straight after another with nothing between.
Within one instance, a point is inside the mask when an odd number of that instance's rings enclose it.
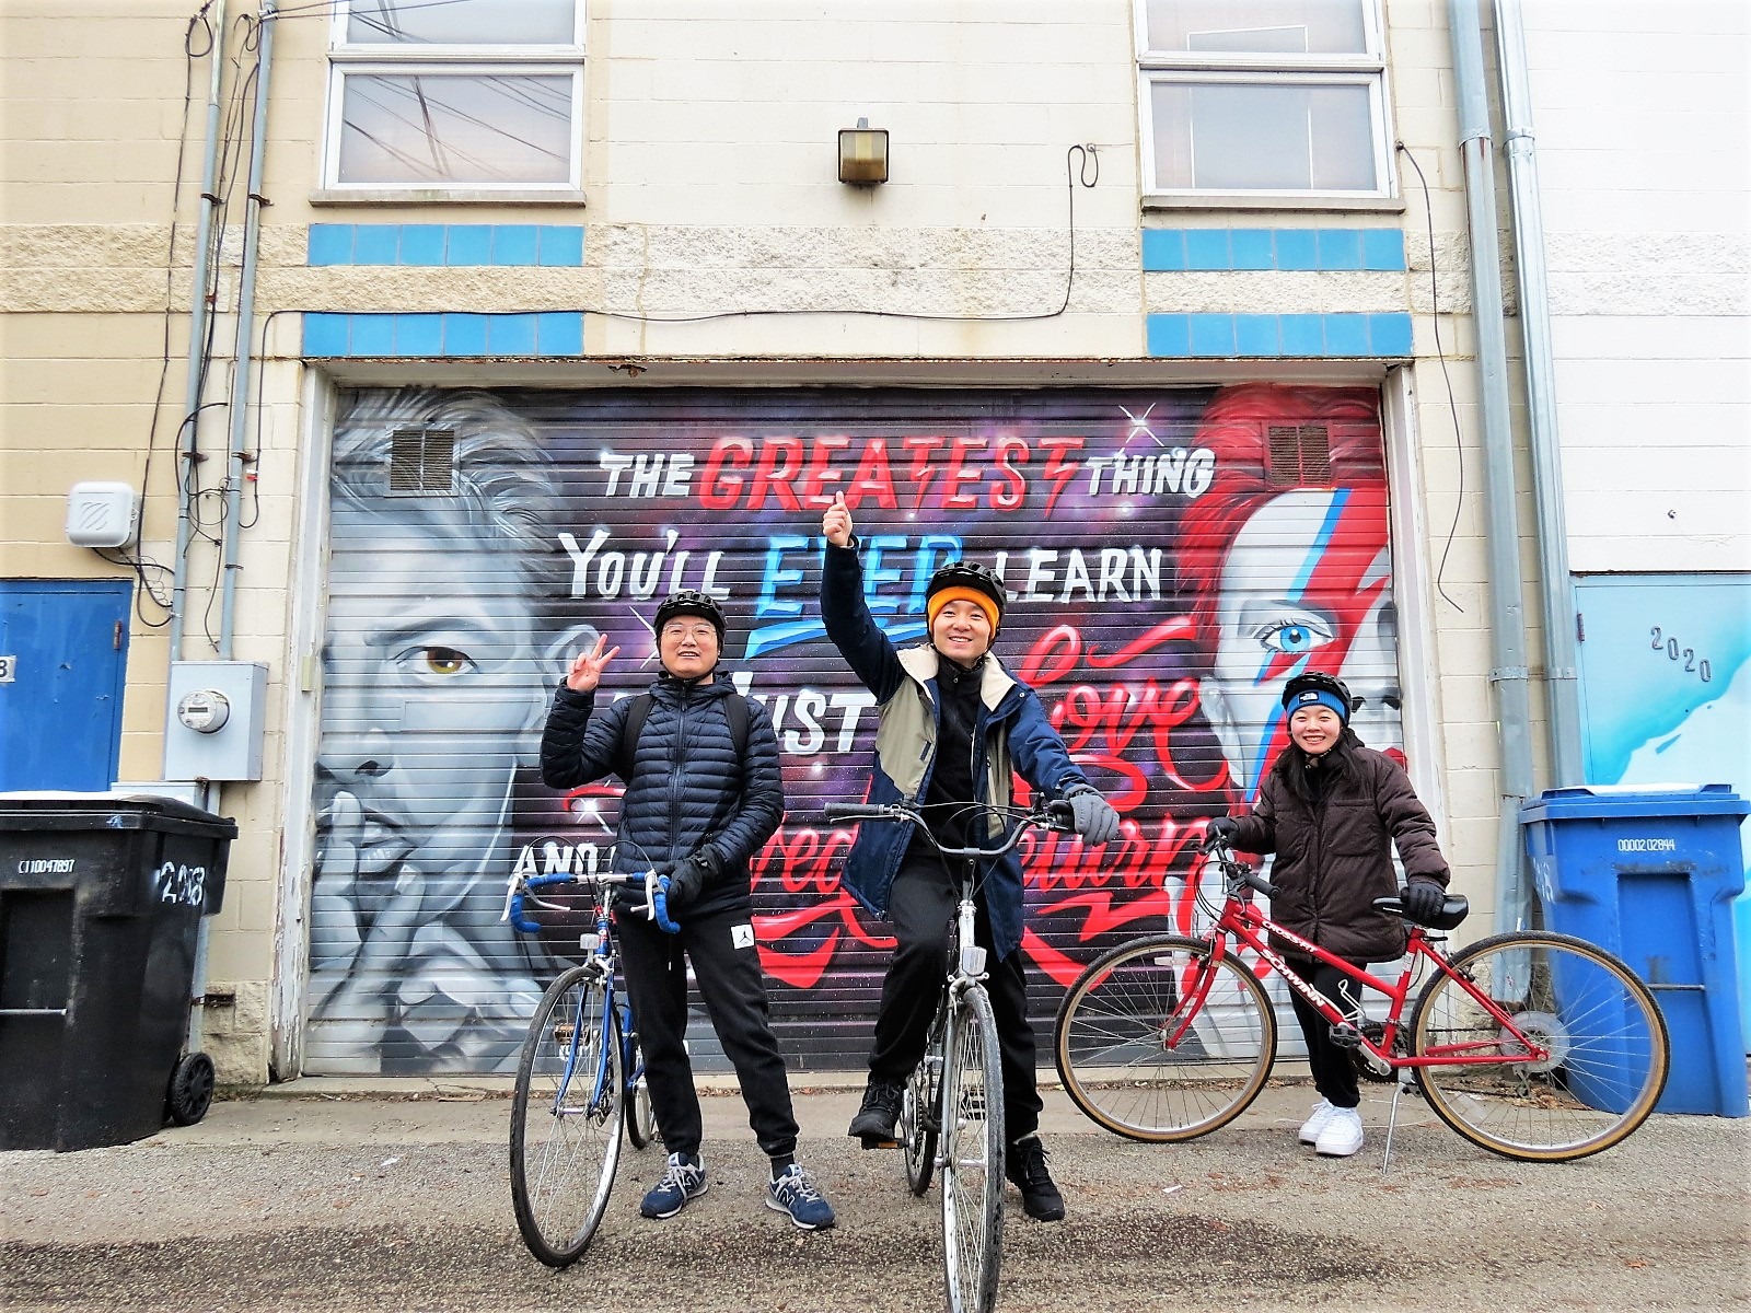
<instances>
[{"instance_id":1,"label":"red bicycle frame beside the woman in brown jacket","mask_svg":"<svg viewBox=\"0 0 1751 1313\"><path fill-rule=\"evenodd\" d=\"M1516 1026L1509 1012L1497 1005L1488 994L1481 993L1469 977L1453 970L1446 954L1436 947L1438 942L1445 942L1445 937L1443 940L1432 940L1424 926L1415 923L1408 924L1410 942L1404 949L1404 970L1399 973L1397 984L1387 986L1361 966L1354 966L1343 958L1327 952L1319 944L1311 944L1296 931L1271 921L1271 917L1259 910L1259 907L1252 902L1254 891L1269 895L1273 893L1271 886L1231 858L1217 858L1217 863L1222 868L1227 895L1222 903L1220 916L1217 916L1215 924L1203 937L1210 944L1210 961L1219 963L1233 951L1229 947L1229 937L1233 937L1238 940L1238 947L1247 947L1259 954L1259 958L1283 979L1283 984L1301 994L1301 998L1306 1000L1306 1003L1319 1012L1329 1026L1348 1026L1355 1029L1357 1045L1394 1071L1429 1066L1525 1064L1543 1063L1550 1057L1550 1050ZM1394 905L1397 903L1397 900L1389 902ZM1271 947L1269 937L1294 945L1297 952L1304 952L1308 958L1324 963L1326 966L1336 968L1345 977L1359 982L1362 987L1371 989L1376 994L1385 994L1392 1005L1382 1022L1380 1043L1369 1040L1368 1035L1355 1026L1354 1017L1348 1017L1336 1003L1326 998L1326 994L1299 975L1283 959L1282 952ZM1490 1015L1504 1035L1513 1036L1513 1040L1522 1045L1522 1052L1504 1054L1501 1043L1480 1042L1436 1045L1420 1056L1399 1052L1397 1038L1401 1028L1404 1026L1404 1005L1410 1001L1411 984L1418 973L1418 963L1429 963L1436 972L1452 979L1466 993L1466 996L1471 998L1471 1001ZM1185 1008L1185 1019L1180 1021L1178 1029L1164 1036L1168 1049L1178 1045L1178 1042L1185 1036L1185 1031L1191 1029L1192 1021L1203 1012L1210 987L1215 982L1215 972L1205 970L1199 977L1201 979L1192 986L1192 1000L1191 1007ZM1478 1052L1483 1049L1494 1049L1495 1052Z\"/></svg>"}]
</instances>

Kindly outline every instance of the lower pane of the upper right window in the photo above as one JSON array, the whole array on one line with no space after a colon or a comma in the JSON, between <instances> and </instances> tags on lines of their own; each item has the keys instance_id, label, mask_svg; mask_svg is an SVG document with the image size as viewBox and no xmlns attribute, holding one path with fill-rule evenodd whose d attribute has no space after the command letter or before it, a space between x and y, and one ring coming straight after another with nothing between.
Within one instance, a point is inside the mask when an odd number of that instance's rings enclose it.
<instances>
[{"instance_id":1,"label":"lower pane of the upper right window","mask_svg":"<svg viewBox=\"0 0 1751 1313\"><path fill-rule=\"evenodd\" d=\"M1154 82L1163 191L1378 191L1366 86Z\"/></svg>"}]
</instances>

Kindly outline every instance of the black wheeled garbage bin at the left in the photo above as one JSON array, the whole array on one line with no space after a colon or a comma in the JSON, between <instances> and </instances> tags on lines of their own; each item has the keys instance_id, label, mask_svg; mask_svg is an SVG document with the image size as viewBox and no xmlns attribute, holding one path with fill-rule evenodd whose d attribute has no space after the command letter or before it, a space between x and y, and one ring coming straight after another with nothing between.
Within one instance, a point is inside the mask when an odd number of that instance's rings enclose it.
<instances>
[{"instance_id":1,"label":"black wheeled garbage bin at the left","mask_svg":"<svg viewBox=\"0 0 1751 1313\"><path fill-rule=\"evenodd\" d=\"M207 1112L212 1063L184 1040L235 837L175 798L0 798L0 1148L121 1145Z\"/></svg>"}]
</instances>

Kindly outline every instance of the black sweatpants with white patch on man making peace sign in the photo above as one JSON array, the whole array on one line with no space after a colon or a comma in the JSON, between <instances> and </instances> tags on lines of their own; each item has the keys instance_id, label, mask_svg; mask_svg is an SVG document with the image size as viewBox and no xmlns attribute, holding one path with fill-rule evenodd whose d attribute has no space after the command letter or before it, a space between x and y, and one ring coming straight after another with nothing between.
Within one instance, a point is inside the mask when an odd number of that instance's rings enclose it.
<instances>
[{"instance_id":1,"label":"black sweatpants with white patch on man making peace sign","mask_svg":"<svg viewBox=\"0 0 1751 1313\"><path fill-rule=\"evenodd\" d=\"M676 919L681 933L669 935L641 916L615 914L632 1017L644 1049L644 1078L664 1143L671 1154L697 1154L704 1136L693 1064L686 1057L686 959L692 959L706 1015L735 1068L760 1148L769 1157L795 1154L790 1078L772 1035L748 910Z\"/></svg>"}]
</instances>

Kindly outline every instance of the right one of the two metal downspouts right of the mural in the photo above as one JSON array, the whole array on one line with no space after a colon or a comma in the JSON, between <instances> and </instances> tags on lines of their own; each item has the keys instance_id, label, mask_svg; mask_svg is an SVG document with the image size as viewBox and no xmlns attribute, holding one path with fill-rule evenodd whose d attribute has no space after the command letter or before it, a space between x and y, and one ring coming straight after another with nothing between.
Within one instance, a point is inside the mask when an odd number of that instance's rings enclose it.
<instances>
[{"instance_id":1,"label":"right one of the two metal downspouts right of the mural","mask_svg":"<svg viewBox=\"0 0 1751 1313\"><path fill-rule=\"evenodd\" d=\"M1495 4L1495 63L1502 84L1508 210L1513 217L1515 264L1520 270L1520 326L1525 334L1527 441L1532 450L1532 497L1537 506L1551 783L1560 788L1585 781L1581 692L1576 669L1574 576L1569 572L1569 527L1562 501L1562 443L1557 429L1557 366L1550 329L1550 277L1544 266L1544 215L1539 208L1537 142L1532 137L1532 89L1527 82L1520 0Z\"/></svg>"}]
</instances>

